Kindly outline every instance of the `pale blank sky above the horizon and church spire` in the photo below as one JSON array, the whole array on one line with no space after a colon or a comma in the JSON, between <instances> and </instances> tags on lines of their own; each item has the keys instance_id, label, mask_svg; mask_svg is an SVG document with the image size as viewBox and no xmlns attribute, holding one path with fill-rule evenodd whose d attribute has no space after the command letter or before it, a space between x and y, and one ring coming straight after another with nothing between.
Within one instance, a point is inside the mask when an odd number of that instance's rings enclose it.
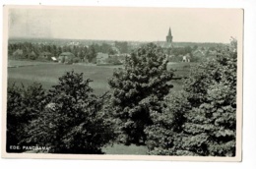
<instances>
[{"instance_id":1,"label":"pale blank sky above the horizon and church spire","mask_svg":"<svg viewBox=\"0 0 256 169\"><path fill-rule=\"evenodd\" d=\"M13 7L9 37L229 42L242 34L241 9L142 7Z\"/></svg>"}]
</instances>

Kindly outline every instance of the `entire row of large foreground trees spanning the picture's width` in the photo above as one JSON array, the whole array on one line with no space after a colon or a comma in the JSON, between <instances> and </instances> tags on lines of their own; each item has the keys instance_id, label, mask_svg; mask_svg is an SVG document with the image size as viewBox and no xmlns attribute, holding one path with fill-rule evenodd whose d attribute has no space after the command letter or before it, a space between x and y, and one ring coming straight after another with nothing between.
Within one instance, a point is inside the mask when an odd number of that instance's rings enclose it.
<instances>
[{"instance_id":1,"label":"entire row of large foreground trees spanning the picture's width","mask_svg":"<svg viewBox=\"0 0 256 169\"><path fill-rule=\"evenodd\" d=\"M101 96L74 72L49 91L10 85L7 151L12 144L36 144L52 153L102 153L117 141L144 144L156 155L234 156L236 62L235 50L221 50L173 92L174 73L162 49L150 43L126 58Z\"/></svg>"}]
</instances>

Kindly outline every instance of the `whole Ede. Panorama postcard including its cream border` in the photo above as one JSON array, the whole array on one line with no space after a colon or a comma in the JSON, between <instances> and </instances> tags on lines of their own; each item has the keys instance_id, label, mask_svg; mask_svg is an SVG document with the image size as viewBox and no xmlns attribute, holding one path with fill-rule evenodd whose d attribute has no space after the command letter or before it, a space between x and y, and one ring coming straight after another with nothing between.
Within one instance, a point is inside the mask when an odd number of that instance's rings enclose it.
<instances>
[{"instance_id":1,"label":"whole Ede. Panorama postcard including its cream border","mask_svg":"<svg viewBox=\"0 0 256 169\"><path fill-rule=\"evenodd\" d=\"M3 8L4 157L241 160L243 9Z\"/></svg>"}]
</instances>

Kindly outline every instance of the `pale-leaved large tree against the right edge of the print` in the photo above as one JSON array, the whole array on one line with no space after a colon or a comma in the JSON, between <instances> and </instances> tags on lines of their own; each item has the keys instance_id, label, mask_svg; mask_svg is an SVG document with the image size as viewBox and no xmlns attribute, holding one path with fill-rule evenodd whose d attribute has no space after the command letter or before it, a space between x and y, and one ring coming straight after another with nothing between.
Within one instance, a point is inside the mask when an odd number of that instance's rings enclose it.
<instances>
[{"instance_id":1,"label":"pale-leaved large tree against the right edge of the print","mask_svg":"<svg viewBox=\"0 0 256 169\"><path fill-rule=\"evenodd\" d=\"M185 116L186 135L181 141L180 154L235 155L236 61L236 52L224 50L220 51L213 67L202 68L210 69L212 81L205 85L205 97ZM194 84L190 81L186 85L193 87Z\"/></svg>"}]
</instances>

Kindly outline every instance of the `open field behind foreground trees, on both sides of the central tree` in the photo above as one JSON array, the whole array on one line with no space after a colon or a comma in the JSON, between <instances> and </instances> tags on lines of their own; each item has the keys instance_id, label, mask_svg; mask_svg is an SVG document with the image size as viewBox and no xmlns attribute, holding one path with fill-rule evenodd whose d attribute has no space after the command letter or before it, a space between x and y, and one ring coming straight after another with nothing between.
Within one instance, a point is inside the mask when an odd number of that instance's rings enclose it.
<instances>
[{"instance_id":1,"label":"open field behind foreground trees, on both sides of the central tree","mask_svg":"<svg viewBox=\"0 0 256 169\"><path fill-rule=\"evenodd\" d=\"M77 73L84 73L85 79L91 79L94 82L91 86L96 94L101 94L109 89L108 79L112 77L113 70L120 66L96 66L96 65L63 65L49 62L30 62L30 61L9 61L8 83L29 85L33 82L42 84L45 89L51 88L58 83L58 78L65 72L74 70ZM170 63L168 69L177 70L176 76L188 76L190 63ZM174 90L182 87L182 80L172 81Z\"/></svg>"}]
</instances>

